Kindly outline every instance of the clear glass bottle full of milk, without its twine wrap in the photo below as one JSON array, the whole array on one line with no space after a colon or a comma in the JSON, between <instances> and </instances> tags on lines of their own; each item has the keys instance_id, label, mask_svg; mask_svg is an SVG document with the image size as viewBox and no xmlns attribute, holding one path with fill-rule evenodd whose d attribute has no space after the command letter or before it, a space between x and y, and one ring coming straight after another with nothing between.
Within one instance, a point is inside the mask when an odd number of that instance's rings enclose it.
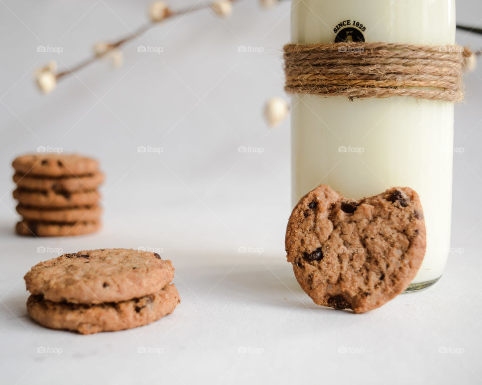
<instances>
[{"instance_id":1,"label":"clear glass bottle full of milk, without its twine wrap","mask_svg":"<svg viewBox=\"0 0 482 385\"><path fill-rule=\"evenodd\" d=\"M454 44L455 0L293 0L292 43L360 36L366 42ZM415 189L427 250L408 290L437 282L450 248L453 103L297 94L291 119L293 205L321 183L351 199L391 186Z\"/></svg>"}]
</instances>

